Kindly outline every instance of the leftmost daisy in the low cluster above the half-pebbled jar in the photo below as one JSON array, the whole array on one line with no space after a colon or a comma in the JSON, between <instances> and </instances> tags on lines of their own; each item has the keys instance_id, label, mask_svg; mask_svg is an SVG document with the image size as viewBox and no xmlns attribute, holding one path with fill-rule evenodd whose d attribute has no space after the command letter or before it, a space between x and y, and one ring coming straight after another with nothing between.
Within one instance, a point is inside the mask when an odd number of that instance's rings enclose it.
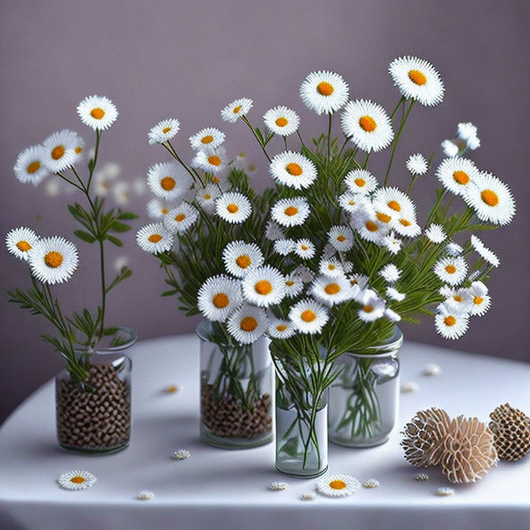
<instances>
[{"instance_id":1,"label":"leftmost daisy in the low cluster above the half-pebbled jar","mask_svg":"<svg viewBox=\"0 0 530 530\"><path fill-rule=\"evenodd\" d=\"M212 322L224 322L241 302L240 282L222 274L210 276L197 293L197 308Z\"/></svg>"}]
</instances>

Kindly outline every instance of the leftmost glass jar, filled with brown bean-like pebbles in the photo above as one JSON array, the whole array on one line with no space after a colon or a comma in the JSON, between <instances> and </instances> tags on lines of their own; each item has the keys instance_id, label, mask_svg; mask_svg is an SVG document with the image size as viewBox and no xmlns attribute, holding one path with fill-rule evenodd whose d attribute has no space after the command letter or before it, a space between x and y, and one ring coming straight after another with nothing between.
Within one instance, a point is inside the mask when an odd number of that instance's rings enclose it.
<instances>
[{"instance_id":1,"label":"leftmost glass jar, filled with brown bean-like pebbles","mask_svg":"<svg viewBox=\"0 0 530 530\"><path fill-rule=\"evenodd\" d=\"M132 328L117 328L97 351L77 351L88 378L79 382L66 369L55 377L57 439L63 449L106 454L125 449L130 440L132 361L120 353L137 339Z\"/></svg>"}]
</instances>

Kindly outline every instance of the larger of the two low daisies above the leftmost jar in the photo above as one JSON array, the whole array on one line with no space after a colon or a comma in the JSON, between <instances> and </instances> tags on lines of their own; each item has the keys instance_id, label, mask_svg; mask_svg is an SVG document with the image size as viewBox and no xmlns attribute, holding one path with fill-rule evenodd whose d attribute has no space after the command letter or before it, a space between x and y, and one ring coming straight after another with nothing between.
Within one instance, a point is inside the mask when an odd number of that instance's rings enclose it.
<instances>
[{"instance_id":1,"label":"larger of the two low daisies above the leftmost jar","mask_svg":"<svg viewBox=\"0 0 530 530\"><path fill-rule=\"evenodd\" d=\"M57 235L39 239L28 253L32 275L45 284L62 284L75 272L79 258L75 244Z\"/></svg>"}]
</instances>

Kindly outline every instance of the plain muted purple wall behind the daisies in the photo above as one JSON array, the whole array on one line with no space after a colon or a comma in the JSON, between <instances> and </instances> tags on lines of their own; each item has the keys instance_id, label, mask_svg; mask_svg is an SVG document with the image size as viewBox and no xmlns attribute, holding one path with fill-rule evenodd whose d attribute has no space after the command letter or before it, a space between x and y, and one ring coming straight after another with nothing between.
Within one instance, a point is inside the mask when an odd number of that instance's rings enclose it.
<instances>
[{"instance_id":1,"label":"plain muted purple wall behind the daisies","mask_svg":"<svg viewBox=\"0 0 530 530\"><path fill-rule=\"evenodd\" d=\"M386 73L389 61L420 55L440 70L446 98L436 108L414 109L398 148L393 182L406 175L406 155L428 155L451 137L458 121L473 121L482 139L473 159L509 183L518 199L518 215L509 228L484 235L502 260L491 284L488 315L473 320L471 331L458 343L439 340L429 319L420 327L405 326L406 337L524 359L530 338L530 252L524 244L530 228L529 14L527 0L504 2L502 7L494 0L269 0L255 5L248 0L3 0L2 233L14 226L34 226L40 215L41 233L73 239L66 204L75 197L50 197L44 184L22 185L11 168L20 150L54 130L72 128L91 142L91 131L75 113L86 95L107 95L119 108L119 119L104 134L101 150L102 163L120 164L119 181L132 184L150 164L168 159L162 148L148 146L146 133L159 119L178 117L182 132L176 144L184 156L190 155L189 135L204 126L220 126L228 135L230 153L244 150L255 161L253 178L263 187L271 182L266 161L253 148L244 124L221 121L219 110L225 104L252 97L255 108L249 117L255 123L271 106L293 106L308 137L325 127L325 118L312 115L297 95L308 72L340 72L352 97L393 108L398 95ZM274 147L279 150L279 142ZM388 153L374 156L373 168L382 167L386 157ZM432 179L416 188L419 202L431 201ZM140 222L146 222L148 198L147 193L132 192L130 206L141 211ZM92 248L77 243L79 271L67 286L55 290L71 307L92 304L97 289L96 259L88 255ZM126 243L126 251L113 257L128 255L134 275L112 293L109 322L135 326L141 338L191 331L197 320L186 320L176 310L176 300L159 297L162 274L155 260L137 248L134 234ZM1 253L0 291L26 285L25 266L5 249ZM0 305L0 420L61 367L59 356L39 340L43 322L5 300Z\"/></svg>"}]
</instances>

